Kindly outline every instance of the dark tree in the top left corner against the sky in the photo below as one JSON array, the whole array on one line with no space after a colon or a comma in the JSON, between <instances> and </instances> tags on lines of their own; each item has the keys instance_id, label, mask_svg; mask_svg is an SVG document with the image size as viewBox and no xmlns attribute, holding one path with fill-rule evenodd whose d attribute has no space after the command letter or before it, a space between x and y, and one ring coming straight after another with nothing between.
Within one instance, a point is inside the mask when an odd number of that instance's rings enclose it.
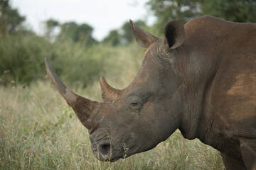
<instances>
[{"instance_id":1,"label":"dark tree in the top left corner against the sky","mask_svg":"<svg viewBox=\"0 0 256 170\"><path fill-rule=\"evenodd\" d=\"M0 0L1 35L16 33L25 19L16 8L11 8L9 0Z\"/></svg>"}]
</instances>

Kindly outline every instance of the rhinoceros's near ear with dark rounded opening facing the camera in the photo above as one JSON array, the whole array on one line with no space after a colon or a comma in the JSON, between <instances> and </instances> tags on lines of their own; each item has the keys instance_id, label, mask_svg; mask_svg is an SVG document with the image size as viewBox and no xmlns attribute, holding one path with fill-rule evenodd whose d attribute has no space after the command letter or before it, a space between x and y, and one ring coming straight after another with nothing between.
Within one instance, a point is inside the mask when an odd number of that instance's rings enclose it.
<instances>
[{"instance_id":1,"label":"rhinoceros's near ear with dark rounded opening facing the camera","mask_svg":"<svg viewBox=\"0 0 256 170\"><path fill-rule=\"evenodd\" d=\"M166 50L174 49L180 46L185 40L185 30L183 19L169 21L164 28L164 48Z\"/></svg>"}]
</instances>

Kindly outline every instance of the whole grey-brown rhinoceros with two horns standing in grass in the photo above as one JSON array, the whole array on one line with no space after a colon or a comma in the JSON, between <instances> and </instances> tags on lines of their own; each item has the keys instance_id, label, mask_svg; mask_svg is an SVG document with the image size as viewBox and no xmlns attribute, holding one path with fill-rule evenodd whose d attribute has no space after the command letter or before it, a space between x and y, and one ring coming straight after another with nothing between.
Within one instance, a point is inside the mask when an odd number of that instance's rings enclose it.
<instances>
[{"instance_id":1,"label":"whole grey-brown rhinoceros with two horns standing in grass","mask_svg":"<svg viewBox=\"0 0 256 170\"><path fill-rule=\"evenodd\" d=\"M142 66L125 89L100 77L103 102L48 77L88 129L100 161L145 152L180 130L218 149L226 169L256 169L256 24L213 16L169 21L159 39L130 21Z\"/></svg>"}]
</instances>

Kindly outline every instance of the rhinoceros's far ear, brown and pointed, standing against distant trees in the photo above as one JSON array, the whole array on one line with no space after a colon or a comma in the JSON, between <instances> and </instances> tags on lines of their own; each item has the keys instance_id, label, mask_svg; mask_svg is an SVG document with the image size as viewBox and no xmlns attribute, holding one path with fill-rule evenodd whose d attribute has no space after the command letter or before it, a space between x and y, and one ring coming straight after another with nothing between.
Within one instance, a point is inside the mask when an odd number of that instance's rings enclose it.
<instances>
[{"instance_id":1,"label":"rhinoceros's far ear, brown and pointed, standing against distant trees","mask_svg":"<svg viewBox=\"0 0 256 170\"><path fill-rule=\"evenodd\" d=\"M138 42L138 44L144 48L149 47L155 40L158 40L159 38L155 37L154 35L151 35L151 33L148 33L146 30L140 28L139 26L135 25L132 20L130 20L131 27L132 27L132 33L134 35L134 38Z\"/></svg>"}]
</instances>

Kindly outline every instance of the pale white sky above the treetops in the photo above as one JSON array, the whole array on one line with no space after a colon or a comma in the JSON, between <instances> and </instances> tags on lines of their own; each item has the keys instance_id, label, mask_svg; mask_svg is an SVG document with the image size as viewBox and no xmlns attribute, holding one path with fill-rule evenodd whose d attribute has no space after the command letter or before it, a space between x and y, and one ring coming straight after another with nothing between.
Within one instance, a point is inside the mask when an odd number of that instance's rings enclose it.
<instances>
[{"instance_id":1,"label":"pale white sky above the treetops","mask_svg":"<svg viewBox=\"0 0 256 170\"><path fill-rule=\"evenodd\" d=\"M118 29L129 19L154 22L149 16L148 0L12 0L11 6L26 16L26 25L43 33L42 21L53 18L60 23L75 21L94 28L93 37L102 40L110 30Z\"/></svg>"}]
</instances>

